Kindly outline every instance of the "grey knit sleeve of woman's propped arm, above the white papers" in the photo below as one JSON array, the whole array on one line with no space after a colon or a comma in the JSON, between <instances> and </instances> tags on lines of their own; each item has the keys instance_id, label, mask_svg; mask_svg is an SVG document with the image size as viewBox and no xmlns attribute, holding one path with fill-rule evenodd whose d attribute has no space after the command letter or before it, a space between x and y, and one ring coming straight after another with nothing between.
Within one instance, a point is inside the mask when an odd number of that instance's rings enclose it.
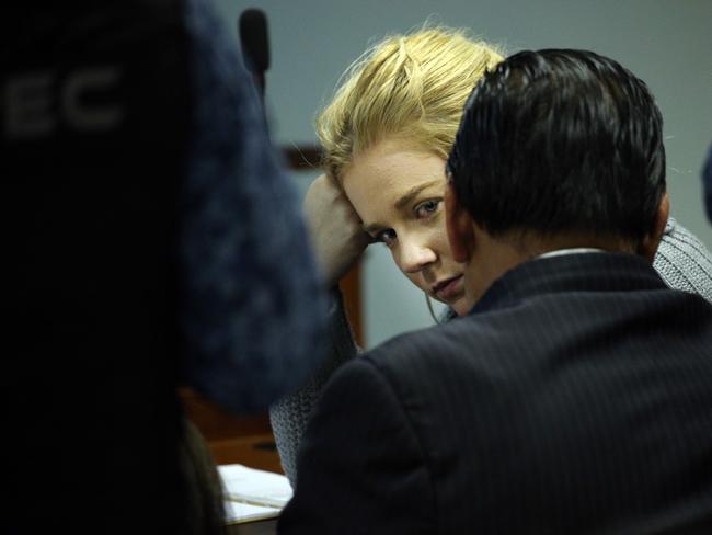
<instances>
[{"instance_id":1,"label":"grey knit sleeve of woman's propped arm, above the white papers","mask_svg":"<svg viewBox=\"0 0 712 535\"><path fill-rule=\"evenodd\" d=\"M329 314L328 357L308 382L269 408L269 420L282 459L282 467L294 487L297 480L297 454L301 437L329 378L345 362L354 358L359 349L346 318L341 293L332 294Z\"/></svg>"}]
</instances>

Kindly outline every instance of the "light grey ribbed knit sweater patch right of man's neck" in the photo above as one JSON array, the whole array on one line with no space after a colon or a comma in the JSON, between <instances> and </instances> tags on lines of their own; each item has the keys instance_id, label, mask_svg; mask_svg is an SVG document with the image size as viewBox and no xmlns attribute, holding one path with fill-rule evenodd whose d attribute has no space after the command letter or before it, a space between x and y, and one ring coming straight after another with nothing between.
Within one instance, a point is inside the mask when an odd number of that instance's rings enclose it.
<instances>
[{"instance_id":1,"label":"light grey ribbed knit sweater patch right of man's neck","mask_svg":"<svg viewBox=\"0 0 712 535\"><path fill-rule=\"evenodd\" d=\"M712 303L712 254L671 217L653 266L671 288L699 294Z\"/></svg>"}]
</instances>

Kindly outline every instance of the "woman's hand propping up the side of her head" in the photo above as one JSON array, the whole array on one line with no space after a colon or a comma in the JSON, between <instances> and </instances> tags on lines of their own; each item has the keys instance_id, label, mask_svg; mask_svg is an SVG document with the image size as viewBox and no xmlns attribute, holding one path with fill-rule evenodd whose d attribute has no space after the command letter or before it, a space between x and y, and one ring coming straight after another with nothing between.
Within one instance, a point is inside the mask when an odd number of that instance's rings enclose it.
<instances>
[{"instance_id":1,"label":"woman's hand propping up the side of her head","mask_svg":"<svg viewBox=\"0 0 712 535\"><path fill-rule=\"evenodd\" d=\"M317 178L305 197L305 215L312 247L325 278L335 286L372 241L344 192L325 174Z\"/></svg>"}]
</instances>

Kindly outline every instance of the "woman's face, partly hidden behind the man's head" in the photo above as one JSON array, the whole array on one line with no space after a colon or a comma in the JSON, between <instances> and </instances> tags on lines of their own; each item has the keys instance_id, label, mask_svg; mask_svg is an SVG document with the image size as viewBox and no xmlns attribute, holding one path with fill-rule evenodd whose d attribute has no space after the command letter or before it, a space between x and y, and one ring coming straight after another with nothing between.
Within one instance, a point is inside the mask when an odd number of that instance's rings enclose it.
<instances>
[{"instance_id":1,"label":"woman's face, partly hidden behind the man's head","mask_svg":"<svg viewBox=\"0 0 712 535\"><path fill-rule=\"evenodd\" d=\"M387 139L354 158L343 185L364 230L386 243L405 276L467 314L462 266L450 255L445 230L445 160Z\"/></svg>"}]
</instances>

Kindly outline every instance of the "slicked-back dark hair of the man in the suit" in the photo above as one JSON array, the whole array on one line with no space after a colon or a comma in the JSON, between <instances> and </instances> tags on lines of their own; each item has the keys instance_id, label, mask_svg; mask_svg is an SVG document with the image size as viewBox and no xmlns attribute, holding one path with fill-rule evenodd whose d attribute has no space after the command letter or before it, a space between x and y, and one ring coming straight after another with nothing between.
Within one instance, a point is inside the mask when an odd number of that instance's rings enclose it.
<instances>
[{"instance_id":1,"label":"slicked-back dark hair of the man in the suit","mask_svg":"<svg viewBox=\"0 0 712 535\"><path fill-rule=\"evenodd\" d=\"M640 243L665 193L662 129L645 83L612 59L521 52L470 94L448 173L492 236L583 231Z\"/></svg>"}]
</instances>

